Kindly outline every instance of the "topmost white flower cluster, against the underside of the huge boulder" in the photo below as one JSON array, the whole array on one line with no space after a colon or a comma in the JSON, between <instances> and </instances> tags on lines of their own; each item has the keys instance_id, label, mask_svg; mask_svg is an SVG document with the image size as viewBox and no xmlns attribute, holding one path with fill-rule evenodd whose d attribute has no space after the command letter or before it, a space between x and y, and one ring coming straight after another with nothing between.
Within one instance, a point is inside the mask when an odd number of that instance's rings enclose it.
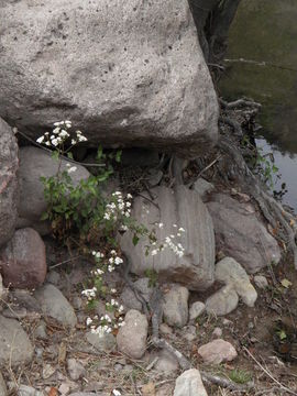
<instances>
[{"instance_id":1,"label":"topmost white flower cluster, against the underside of the huge boulder","mask_svg":"<svg viewBox=\"0 0 297 396\"><path fill-rule=\"evenodd\" d=\"M70 138L69 130L73 124L72 121L58 121L54 123L53 132L45 132L42 136L40 136L36 142L40 144L45 144L47 146L59 147L64 144L64 142ZM79 142L86 142L87 138L82 135L80 131L75 132L76 138L72 139L72 146Z\"/></svg>"}]
</instances>

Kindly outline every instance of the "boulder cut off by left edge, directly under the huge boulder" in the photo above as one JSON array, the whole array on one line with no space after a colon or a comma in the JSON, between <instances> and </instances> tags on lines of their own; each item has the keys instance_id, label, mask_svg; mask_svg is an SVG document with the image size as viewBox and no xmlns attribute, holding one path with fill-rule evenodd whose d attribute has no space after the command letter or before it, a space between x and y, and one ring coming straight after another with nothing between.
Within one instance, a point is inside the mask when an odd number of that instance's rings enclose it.
<instances>
[{"instance_id":1,"label":"boulder cut off by left edge, directly under the huge boulder","mask_svg":"<svg viewBox=\"0 0 297 396\"><path fill-rule=\"evenodd\" d=\"M16 140L0 118L0 246L12 238L16 223L18 167Z\"/></svg>"}]
</instances>

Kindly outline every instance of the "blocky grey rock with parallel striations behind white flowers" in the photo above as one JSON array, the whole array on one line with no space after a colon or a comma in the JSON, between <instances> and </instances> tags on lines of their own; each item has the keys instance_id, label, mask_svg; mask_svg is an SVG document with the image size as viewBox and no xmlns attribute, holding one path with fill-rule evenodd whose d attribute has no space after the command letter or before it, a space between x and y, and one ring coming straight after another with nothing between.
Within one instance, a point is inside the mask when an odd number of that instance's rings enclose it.
<instances>
[{"instance_id":1,"label":"blocky grey rock with parallel striations behind white flowers","mask_svg":"<svg viewBox=\"0 0 297 396\"><path fill-rule=\"evenodd\" d=\"M157 244L176 233L179 227L184 228L186 232L173 239L175 244L184 246L184 256L179 257L168 248L156 255L145 256L147 240L141 240L134 246L127 233L121 246L131 261L132 271L141 275L153 268L167 282L179 283L193 290L207 289L215 278L215 235L207 207L198 193L185 186L177 186L175 190L157 187L152 189L152 194L160 209L150 200L138 197L133 204L133 217L148 229L156 224ZM162 229L160 223L164 224Z\"/></svg>"}]
</instances>

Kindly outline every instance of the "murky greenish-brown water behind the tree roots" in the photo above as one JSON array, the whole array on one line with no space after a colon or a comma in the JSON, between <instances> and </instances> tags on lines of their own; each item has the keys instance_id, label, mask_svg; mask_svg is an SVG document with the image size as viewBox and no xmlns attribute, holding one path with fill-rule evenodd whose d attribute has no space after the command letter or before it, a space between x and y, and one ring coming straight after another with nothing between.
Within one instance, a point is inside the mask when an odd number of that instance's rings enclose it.
<instances>
[{"instance_id":1,"label":"murky greenish-brown water behind the tree roots","mask_svg":"<svg viewBox=\"0 0 297 396\"><path fill-rule=\"evenodd\" d=\"M260 114L263 153L273 152L284 202L297 211L297 1L242 0L229 37L229 59L220 82L227 99L252 97ZM264 138L264 139L262 139Z\"/></svg>"}]
</instances>

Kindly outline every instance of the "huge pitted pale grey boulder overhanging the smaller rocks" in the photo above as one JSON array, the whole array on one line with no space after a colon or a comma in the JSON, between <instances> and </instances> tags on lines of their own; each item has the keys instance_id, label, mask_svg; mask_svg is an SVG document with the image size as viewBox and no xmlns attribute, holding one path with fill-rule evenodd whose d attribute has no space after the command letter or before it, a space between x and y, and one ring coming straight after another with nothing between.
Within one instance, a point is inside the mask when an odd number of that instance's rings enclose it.
<instances>
[{"instance_id":1,"label":"huge pitted pale grey boulder overhanging the smaller rocks","mask_svg":"<svg viewBox=\"0 0 297 396\"><path fill-rule=\"evenodd\" d=\"M70 119L97 144L195 153L216 142L217 98L186 0L0 8L0 116L31 136Z\"/></svg>"}]
</instances>

